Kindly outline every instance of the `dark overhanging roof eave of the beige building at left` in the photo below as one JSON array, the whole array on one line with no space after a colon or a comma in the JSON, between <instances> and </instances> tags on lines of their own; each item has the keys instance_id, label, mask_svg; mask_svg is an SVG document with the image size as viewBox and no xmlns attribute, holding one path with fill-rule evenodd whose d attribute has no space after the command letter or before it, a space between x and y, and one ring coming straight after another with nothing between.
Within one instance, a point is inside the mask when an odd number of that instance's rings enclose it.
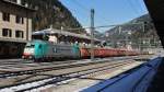
<instances>
[{"instance_id":1,"label":"dark overhanging roof eave of the beige building at left","mask_svg":"<svg viewBox=\"0 0 164 92\"><path fill-rule=\"evenodd\" d=\"M14 5L14 7L19 7L19 8L21 8L21 9L25 9L25 10L31 11L31 12L35 12L34 9L30 9L30 8L25 7L25 5L17 4L17 3L12 2L12 1L9 1L9 0L0 0L0 2L8 3L8 4L12 4L12 5Z\"/></svg>"}]
</instances>

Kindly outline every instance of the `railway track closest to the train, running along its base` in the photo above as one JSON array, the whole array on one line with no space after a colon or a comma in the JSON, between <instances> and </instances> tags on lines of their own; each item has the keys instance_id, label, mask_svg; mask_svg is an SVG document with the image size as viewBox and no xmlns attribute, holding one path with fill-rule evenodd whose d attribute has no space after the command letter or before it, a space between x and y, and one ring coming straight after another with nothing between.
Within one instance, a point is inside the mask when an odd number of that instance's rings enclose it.
<instances>
[{"instance_id":1,"label":"railway track closest to the train, running along its base","mask_svg":"<svg viewBox=\"0 0 164 92\"><path fill-rule=\"evenodd\" d=\"M120 60L120 59L128 59L128 58L137 58L139 56L130 56L130 57L109 57L108 60ZM102 58L95 58L98 60ZM33 60L24 60L24 59L4 59L0 60L0 71L3 69L11 69L11 68L23 68L23 67L38 67L38 66L49 66L49 65L61 65L61 64L71 64L71 62L79 62L79 61L89 61L90 59L79 59L79 60L63 60L63 61L50 61L50 62L34 62Z\"/></svg>"}]
</instances>

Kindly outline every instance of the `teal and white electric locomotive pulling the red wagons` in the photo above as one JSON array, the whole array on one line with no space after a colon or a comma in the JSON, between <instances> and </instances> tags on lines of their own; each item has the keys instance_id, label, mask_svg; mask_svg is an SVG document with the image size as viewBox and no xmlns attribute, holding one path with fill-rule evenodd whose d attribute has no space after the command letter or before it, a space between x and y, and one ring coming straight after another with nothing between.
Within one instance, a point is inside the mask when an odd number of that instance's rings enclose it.
<instances>
[{"instance_id":1,"label":"teal and white electric locomotive pulling the red wagons","mask_svg":"<svg viewBox=\"0 0 164 92\"><path fill-rule=\"evenodd\" d=\"M47 41L32 41L26 44L23 53L24 59L34 59L35 61L79 57L80 51L77 44L71 46Z\"/></svg>"}]
</instances>

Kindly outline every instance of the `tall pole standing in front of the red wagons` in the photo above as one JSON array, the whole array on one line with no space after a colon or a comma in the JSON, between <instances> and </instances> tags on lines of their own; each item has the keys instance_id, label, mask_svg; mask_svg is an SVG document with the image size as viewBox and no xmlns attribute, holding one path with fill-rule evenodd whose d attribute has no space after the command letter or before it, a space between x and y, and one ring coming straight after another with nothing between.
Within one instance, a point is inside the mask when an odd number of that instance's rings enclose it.
<instances>
[{"instance_id":1,"label":"tall pole standing in front of the red wagons","mask_svg":"<svg viewBox=\"0 0 164 92\"><path fill-rule=\"evenodd\" d=\"M91 60L94 60L94 9L91 9Z\"/></svg>"}]
</instances>

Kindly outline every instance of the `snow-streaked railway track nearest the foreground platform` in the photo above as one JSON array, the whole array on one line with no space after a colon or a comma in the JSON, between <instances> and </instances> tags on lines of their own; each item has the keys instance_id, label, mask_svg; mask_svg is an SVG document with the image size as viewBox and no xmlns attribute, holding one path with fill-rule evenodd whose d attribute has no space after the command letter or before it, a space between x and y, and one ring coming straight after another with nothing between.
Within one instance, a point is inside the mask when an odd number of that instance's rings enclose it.
<instances>
[{"instance_id":1,"label":"snow-streaked railway track nearest the foreground platform","mask_svg":"<svg viewBox=\"0 0 164 92\"><path fill-rule=\"evenodd\" d=\"M34 81L28 81L28 82L3 87L3 88L1 88L0 91L16 91L16 92L30 91L30 90L34 90L34 89L39 89L42 87L47 87L50 84L59 84L59 83L62 83L62 81L71 80L73 78L84 78L84 77L93 74L93 73L110 70L114 68L119 68L125 65L130 65L131 62L132 61L130 61L130 60L110 62L110 65L108 64L108 65L95 67L92 69L90 68L90 69L84 69L84 70L78 70L74 72L68 72L68 73L62 73L62 74L58 74L58 76L50 76L50 78L48 77L48 78L43 78L39 80L34 80Z\"/></svg>"}]
</instances>

